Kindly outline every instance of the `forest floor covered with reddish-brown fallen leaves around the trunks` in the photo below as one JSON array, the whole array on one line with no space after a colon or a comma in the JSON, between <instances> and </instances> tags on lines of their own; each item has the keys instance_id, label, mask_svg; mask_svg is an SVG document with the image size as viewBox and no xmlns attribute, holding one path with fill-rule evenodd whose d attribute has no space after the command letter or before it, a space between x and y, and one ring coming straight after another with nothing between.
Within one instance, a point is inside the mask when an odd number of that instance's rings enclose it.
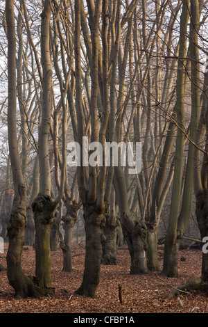
<instances>
[{"instance_id":1,"label":"forest floor covered with reddish-brown fallen leaves around the trunks","mask_svg":"<svg viewBox=\"0 0 208 327\"><path fill-rule=\"evenodd\" d=\"M24 298L17 300L8 284L6 271L0 272L0 313L208 313L208 295L204 291L191 291L166 298L184 282L200 276L202 253L200 250L180 250L178 278L165 278L158 272L146 275L130 275L128 248L119 248L118 264L101 267L101 281L94 298L74 294L83 280L85 249L73 244L73 271L62 272L62 250L51 253L52 298ZM163 264L163 247L159 247L159 264ZM185 257L185 261L180 258ZM6 266L6 250L0 257ZM24 247L22 269L27 275L35 275L35 250ZM119 287L123 288L124 303L119 302ZM182 307L183 305L183 307Z\"/></svg>"}]
</instances>

